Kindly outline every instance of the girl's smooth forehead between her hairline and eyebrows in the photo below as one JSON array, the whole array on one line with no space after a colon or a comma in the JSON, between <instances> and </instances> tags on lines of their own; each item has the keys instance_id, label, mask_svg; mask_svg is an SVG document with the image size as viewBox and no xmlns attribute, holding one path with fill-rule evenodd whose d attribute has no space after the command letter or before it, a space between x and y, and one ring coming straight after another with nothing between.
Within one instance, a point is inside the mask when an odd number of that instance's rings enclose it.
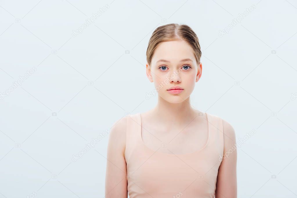
<instances>
[{"instance_id":1,"label":"girl's smooth forehead between her hairline and eyebrows","mask_svg":"<svg viewBox=\"0 0 297 198\"><path fill-rule=\"evenodd\" d=\"M154 64L160 59L179 62L184 58L190 58L192 61L195 60L194 51L186 41L166 41L160 43L155 49L152 63Z\"/></svg>"}]
</instances>

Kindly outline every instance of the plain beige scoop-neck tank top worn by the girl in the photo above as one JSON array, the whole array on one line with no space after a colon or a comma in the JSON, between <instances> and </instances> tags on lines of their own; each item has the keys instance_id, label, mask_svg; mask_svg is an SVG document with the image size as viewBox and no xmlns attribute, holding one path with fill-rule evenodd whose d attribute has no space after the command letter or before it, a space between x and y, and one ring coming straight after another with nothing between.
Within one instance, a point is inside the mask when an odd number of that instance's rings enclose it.
<instances>
[{"instance_id":1,"label":"plain beige scoop-neck tank top worn by the girl","mask_svg":"<svg viewBox=\"0 0 297 198\"><path fill-rule=\"evenodd\" d=\"M130 198L214 198L224 151L223 122L208 113L206 118L208 139L203 148L191 154L167 154L143 143L140 113L127 117L124 156Z\"/></svg>"}]
</instances>

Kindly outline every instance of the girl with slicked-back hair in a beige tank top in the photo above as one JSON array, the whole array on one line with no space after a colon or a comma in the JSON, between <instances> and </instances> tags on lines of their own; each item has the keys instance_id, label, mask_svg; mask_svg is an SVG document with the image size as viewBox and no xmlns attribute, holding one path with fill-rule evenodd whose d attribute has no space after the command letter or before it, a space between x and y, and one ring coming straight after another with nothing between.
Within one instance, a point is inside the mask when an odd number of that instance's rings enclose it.
<instances>
[{"instance_id":1,"label":"girl with slicked-back hair in a beige tank top","mask_svg":"<svg viewBox=\"0 0 297 198\"><path fill-rule=\"evenodd\" d=\"M160 26L146 56L158 103L111 128L105 197L236 198L234 129L190 104L202 74L197 35L187 25Z\"/></svg>"}]
</instances>

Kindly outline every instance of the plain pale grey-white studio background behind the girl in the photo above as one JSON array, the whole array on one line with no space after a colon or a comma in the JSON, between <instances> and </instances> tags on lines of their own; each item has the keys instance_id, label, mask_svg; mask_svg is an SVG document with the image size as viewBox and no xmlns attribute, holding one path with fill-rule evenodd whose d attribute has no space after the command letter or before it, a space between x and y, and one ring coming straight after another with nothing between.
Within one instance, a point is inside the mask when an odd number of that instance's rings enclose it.
<instances>
[{"instance_id":1,"label":"plain pale grey-white studio background behind the girl","mask_svg":"<svg viewBox=\"0 0 297 198\"><path fill-rule=\"evenodd\" d=\"M192 105L228 121L238 142L256 131L237 149L238 197L297 197L296 1L1 0L0 19L0 197L105 196L108 135L73 155L156 105L145 54L168 23L200 39Z\"/></svg>"}]
</instances>

